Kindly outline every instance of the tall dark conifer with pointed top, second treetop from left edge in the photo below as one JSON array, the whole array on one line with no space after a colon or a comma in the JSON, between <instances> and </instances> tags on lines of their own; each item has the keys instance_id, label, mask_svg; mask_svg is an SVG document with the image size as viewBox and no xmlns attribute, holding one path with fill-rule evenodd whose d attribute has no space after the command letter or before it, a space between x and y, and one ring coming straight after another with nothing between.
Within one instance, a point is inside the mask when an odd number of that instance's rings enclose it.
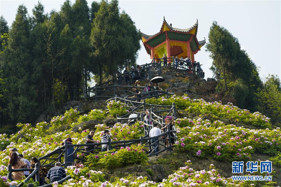
<instances>
[{"instance_id":1,"label":"tall dark conifer with pointed top, second treetop from left edge","mask_svg":"<svg viewBox=\"0 0 281 187\"><path fill-rule=\"evenodd\" d=\"M9 32L1 67L8 90L3 94L7 110L11 119L18 122L30 122L37 116L37 91L33 82L37 75L30 54L30 29L27 8L20 5Z\"/></svg>"}]
</instances>

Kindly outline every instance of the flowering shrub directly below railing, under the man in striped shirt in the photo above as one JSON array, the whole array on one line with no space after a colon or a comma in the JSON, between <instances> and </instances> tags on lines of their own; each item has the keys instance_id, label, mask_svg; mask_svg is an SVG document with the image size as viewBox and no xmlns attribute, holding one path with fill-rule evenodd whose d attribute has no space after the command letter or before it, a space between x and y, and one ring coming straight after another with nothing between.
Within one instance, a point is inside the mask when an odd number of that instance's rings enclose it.
<instances>
[{"instance_id":1,"label":"flowering shrub directly below railing, under the man in striped shirt","mask_svg":"<svg viewBox=\"0 0 281 187\"><path fill-rule=\"evenodd\" d=\"M121 147L118 151L100 152L97 155L86 156L89 167L101 167L105 169L125 166L129 164L142 164L148 160L143 146Z\"/></svg>"}]
</instances>

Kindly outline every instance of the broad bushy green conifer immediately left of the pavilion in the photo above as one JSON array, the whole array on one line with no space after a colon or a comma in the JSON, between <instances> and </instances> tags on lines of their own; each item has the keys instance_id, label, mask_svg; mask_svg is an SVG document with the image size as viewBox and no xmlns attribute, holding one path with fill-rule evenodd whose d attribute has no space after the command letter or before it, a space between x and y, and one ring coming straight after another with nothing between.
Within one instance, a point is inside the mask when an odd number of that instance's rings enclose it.
<instances>
[{"instance_id":1,"label":"broad bushy green conifer immediately left of the pavilion","mask_svg":"<svg viewBox=\"0 0 281 187\"><path fill-rule=\"evenodd\" d=\"M123 16L122 16L123 15ZM91 29L92 55L102 82L102 73L115 75L126 61L134 63L140 49L141 35L134 22L125 14L120 15L118 1L101 1Z\"/></svg>"}]
</instances>

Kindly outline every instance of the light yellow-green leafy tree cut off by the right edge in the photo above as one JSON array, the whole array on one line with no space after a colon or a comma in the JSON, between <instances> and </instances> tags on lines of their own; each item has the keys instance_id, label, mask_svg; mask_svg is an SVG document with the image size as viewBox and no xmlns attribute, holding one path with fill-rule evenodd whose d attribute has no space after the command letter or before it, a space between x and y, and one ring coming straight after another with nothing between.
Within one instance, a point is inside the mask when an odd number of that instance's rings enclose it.
<instances>
[{"instance_id":1,"label":"light yellow-green leafy tree cut off by the right edge","mask_svg":"<svg viewBox=\"0 0 281 187\"><path fill-rule=\"evenodd\" d=\"M258 109L264 115L270 117L271 123L281 126L281 91L280 79L274 75L266 78L263 89L258 89L256 94L259 104Z\"/></svg>"}]
</instances>

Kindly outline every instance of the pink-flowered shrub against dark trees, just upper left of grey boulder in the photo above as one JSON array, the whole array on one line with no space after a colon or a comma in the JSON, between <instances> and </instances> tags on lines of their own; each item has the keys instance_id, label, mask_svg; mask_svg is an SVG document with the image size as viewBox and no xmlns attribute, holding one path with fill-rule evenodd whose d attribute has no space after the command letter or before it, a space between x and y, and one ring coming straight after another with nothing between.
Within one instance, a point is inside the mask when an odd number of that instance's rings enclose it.
<instances>
[{"instance_id":1,"label":"pink-flowered shrub against dark trees, just upper left of grey boulder","mask_svg":"<svg viewBox=\"0 0 281 187\"><path fill-rule=\"evenodd\" d=\"M79 111L77 109L70 108L69 110L65 111L63 115L53 117L50 122L50 128L48 129L49 132L62 127L68 126L71 127L72 123L74 123L79 116Z\"/></svg>"}]
</instances>

